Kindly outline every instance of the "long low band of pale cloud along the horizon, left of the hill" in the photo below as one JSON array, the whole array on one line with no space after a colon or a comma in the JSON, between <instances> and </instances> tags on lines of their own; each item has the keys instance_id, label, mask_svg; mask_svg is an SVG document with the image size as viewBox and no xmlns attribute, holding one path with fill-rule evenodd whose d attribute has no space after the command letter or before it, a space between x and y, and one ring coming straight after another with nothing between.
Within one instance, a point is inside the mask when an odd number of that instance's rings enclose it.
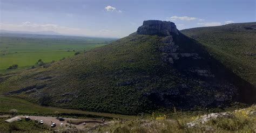
<instances>
[{"instance_id":1,"label":"long low band of pale cloud along the horizon, left of the hill","mask_svg":"<svg viewBox=\"0 0 256 133\"><path fill-rule=\"evenodd\" d=\"M80 36L95 36L95 37L123 37L118 31L112 30L97 30L97 29L79 29L73 27L59 26L57 24L36 24L31 22L23 22L21 24L5 24L0 23L0 30L9 31L55 31L61 34L72 34Z\"/></svg>"}]
</instances>

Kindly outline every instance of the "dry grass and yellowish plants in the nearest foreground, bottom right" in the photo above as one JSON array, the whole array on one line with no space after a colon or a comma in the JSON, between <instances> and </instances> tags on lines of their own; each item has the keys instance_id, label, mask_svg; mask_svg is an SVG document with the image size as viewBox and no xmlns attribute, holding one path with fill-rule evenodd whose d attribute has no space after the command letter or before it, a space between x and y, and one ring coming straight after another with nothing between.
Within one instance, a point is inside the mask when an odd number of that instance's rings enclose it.
<instances>
[{"instance_id":1,"label":"dry grass and yellowish plants in the nearest foreground, bottom right","mask_svg":"<svg viewBox=\"0 0 256 133\"><path fill-rule=\"evenodd\" d=\"M114 121L111 125L99 127L95 132L255 132L256 106L230 112L228 117L210 118L208 122L188 127L187 123L197 121L199 116L178 117L152 116L132 121Z\"/></svg>"}]
</instances>

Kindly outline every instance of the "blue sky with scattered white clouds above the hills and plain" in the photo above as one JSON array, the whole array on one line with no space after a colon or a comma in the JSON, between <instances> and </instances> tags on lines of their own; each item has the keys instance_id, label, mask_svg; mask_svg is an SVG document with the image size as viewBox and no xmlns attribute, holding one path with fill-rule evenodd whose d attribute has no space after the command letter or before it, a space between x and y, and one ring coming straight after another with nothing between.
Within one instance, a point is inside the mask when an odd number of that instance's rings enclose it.
<instances>
[{"instance_id":1,"label":"blue sky with scattered white clouds above the hills and plain","mask_svg":"<svg viewBox=\"0 0 256 133\"><path fill-rule=\"evenodd\" d=\"M179 30L256 22L255 0L0 0L0 29L122 38L143 20Z\"/></svg>"}]
</instances>

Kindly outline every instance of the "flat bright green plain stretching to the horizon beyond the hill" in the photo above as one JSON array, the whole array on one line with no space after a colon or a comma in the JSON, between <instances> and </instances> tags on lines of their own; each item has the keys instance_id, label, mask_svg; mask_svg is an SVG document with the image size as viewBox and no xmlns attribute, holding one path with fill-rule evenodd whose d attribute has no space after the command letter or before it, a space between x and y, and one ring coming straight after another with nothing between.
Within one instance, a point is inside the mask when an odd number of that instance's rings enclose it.
<instances>
[{"instance_id":1,"label":"flat bright green plain stretching to the horizon beyond the hill","mask_svg":"<svg viewBox=\"0 0 256 133\"><path fill-rule=\"evenodd\" d=\"M72 57L75 52L87 51L109 44L115 39L31 34L0 34L0 71L13 64L29 67L44 62Z\"/></svg>"}]
</instances>

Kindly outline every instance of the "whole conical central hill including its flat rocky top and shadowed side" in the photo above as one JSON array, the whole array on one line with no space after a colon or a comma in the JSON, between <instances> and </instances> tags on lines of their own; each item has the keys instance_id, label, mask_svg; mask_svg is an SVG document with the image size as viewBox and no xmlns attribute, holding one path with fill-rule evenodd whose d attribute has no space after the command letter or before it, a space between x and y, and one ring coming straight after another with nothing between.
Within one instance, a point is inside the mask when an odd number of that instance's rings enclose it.
<instances>
[{"instance_id":1,"label":"whole conical central hill including its flat rocky top and shadowed side","mask_svg":"<svg viewBox=\"0 0 256 133\"><path fill-rule=\"evenodd\" d=\"M2 77L0 91L43 105L137 114L253 101L254 88L180 33L144 21L136 33L48 65ZM244 96L248 99L244 99Z\"/></svg>"}]
</instances>

